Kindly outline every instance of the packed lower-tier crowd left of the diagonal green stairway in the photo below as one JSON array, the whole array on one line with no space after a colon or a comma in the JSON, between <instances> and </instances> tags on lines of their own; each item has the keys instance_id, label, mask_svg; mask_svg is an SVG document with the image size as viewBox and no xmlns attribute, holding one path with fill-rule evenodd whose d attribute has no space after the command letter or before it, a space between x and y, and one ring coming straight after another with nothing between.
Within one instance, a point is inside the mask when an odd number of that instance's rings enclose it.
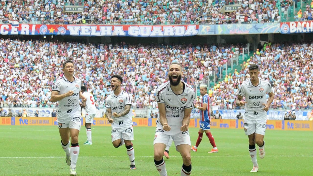
<instances>
[{"instance_id":1,"label":"packed lower-tier crowd left of the diagonal green stairway","mask_svg":"<svg viewBox=\"0 0 313 176\"><path fill-rule=\"evenodd\" d=\"M55 107L49 101L54 81L66 59L76 62L75 76L103 108L112 93L110 75L123 75L123 89L133 94L134 107L156 108L155 91L167 80L167 67L180 62L183 79L194 86L235 60L239 45L93 45L43 41L0 40L0 106ZM234 54L235 53L235 54ZM212 81L212 80L211 80Z\"/></svg>"}]
</instances>

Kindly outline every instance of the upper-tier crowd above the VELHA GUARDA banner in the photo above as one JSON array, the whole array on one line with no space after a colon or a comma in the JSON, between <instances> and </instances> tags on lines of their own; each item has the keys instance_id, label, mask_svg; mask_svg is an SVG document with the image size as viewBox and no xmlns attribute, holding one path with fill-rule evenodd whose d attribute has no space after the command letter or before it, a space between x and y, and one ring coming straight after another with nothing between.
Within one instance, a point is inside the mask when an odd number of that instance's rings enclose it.
<instances>
[{"instance_id":1,"label":"upper-tier crowd above the VELHA GUARDA banner","mask_svg":"<svg viewBox=\"0 0 313 176\"><path fill-rule=\"evenodd\" d=\"M233 12L220 13L225 4L238 4L241 7ZM280 22L276 4L276 0L2 0L0 24L168 25L195 24L197 21L200 24ZM68 13L64 8L66 5L81 5L84 10L80 13Z\"/></svg>"}]
</instances>

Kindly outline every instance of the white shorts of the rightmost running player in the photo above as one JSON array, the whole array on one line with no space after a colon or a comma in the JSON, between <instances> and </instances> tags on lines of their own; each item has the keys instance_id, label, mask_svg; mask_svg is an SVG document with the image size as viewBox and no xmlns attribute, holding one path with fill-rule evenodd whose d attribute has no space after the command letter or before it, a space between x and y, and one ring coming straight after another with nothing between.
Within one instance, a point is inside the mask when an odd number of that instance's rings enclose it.
<instances>
[{"instance_id":1,"label":"white shorts of the rightmost running player","mask_svg":"<svg viewBox=\"0 0 313 176\"><path fill-rule=\"evenodd\" d=\"M266 121L267 119L263 120L244 119L244 132L246 132L246 135L256 133L264 136L266 130Z\"/></svg>"}]
</instances>

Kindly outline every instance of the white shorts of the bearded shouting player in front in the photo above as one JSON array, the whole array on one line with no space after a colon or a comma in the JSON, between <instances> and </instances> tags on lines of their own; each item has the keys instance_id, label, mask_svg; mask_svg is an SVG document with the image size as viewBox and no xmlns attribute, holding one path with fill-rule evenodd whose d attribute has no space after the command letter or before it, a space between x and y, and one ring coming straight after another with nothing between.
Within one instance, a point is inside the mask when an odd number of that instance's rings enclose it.
<instances>
[{"instance_id":1,"label":"white shorts of the bearded shouting player in front","mask_svg":"<svg viewBox=\"0 0 313 176\"><path fill-rule=\"evenodd\" d=\"M191 146L189 131L182 132L180 127L171 127L169 132L164 131L162 126L156 126L156 133L154 135L153 145L156 143L168 144L168 141L172 137L176 150L178 145L187 144ZM178 151L179 152L179 151Z\"/></svg>"}]
</instances>

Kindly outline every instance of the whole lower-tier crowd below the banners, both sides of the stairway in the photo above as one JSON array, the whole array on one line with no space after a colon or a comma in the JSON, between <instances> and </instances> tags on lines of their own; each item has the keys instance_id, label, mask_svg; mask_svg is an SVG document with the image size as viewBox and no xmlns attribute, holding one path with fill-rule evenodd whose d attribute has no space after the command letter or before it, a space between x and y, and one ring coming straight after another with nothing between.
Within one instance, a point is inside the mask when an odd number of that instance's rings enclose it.
<instances>
[{"instance_id":1,"label":"whole lower-tier crowd below the banners, both sides of the stairway","mask_svg":"<svg viewBox=\"0 0 313 176\"><path fill-rule=\"evenodd\" d=\"M171 62L184 66L183 80L195 87L208 83L208 76L236 59L241 46L215 45L93 45L44 41L0 40L0 106L55 107L49 101L54 81L62 75L64 60L76 62L76 77L95 95L99 108L110 95L110 75L123 75L123 89L133 95L136 108L156 108L154 94L167 79ZM217 81L209 90L213 105L233 109L240 84L249 78L250 63L261 67L271 81L275 109L312 109L311 44L264 44L253 57ZM310 58L310 59L308 59ZM212 81L212 80L211 80ZM197 97L195 101L201 98Z\"/></svg>"}]
</instances>

